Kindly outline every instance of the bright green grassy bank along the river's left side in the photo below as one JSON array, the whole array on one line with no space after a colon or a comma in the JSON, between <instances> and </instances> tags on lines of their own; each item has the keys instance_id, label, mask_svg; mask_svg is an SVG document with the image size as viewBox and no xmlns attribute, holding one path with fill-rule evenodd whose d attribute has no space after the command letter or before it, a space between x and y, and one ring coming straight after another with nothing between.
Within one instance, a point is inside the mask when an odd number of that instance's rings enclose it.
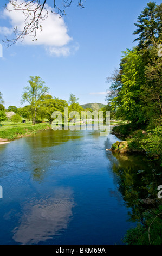
<instances>
[{"instance_id":1,"label":"bright green grassy bank along the river's left side","mask_svg":"<svg viewBox=\"0 0 162 256\"><path fill-rule=\"evenodd\" d=\"M0 129L0 141L11 141L12 139L29 136L37 131L50 129L51 125L48 123L39 123L32 125L32 123L22 123L16 124L11 121L7 121L3 123L3 126Z\"/></svg>"}]
</instances>

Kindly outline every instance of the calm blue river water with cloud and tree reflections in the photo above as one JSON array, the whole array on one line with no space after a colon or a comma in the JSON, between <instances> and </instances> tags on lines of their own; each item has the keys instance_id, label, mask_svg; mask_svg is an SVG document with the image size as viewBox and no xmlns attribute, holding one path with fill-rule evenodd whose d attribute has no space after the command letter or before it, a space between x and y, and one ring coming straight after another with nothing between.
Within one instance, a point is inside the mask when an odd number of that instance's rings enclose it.
<instances>
[{"instance_id":1,"label":"calm blue river water with cloud and tree reflections","mask_svg":"<svg viewBox=\"0 0 162 256\"><path fill-rule=\"evenodd\" d=\"M136 224L116 168L146 168L114 156L115 135L53 131L0 145L1 245L122 245Z\"/></svg>"}]
</instances>

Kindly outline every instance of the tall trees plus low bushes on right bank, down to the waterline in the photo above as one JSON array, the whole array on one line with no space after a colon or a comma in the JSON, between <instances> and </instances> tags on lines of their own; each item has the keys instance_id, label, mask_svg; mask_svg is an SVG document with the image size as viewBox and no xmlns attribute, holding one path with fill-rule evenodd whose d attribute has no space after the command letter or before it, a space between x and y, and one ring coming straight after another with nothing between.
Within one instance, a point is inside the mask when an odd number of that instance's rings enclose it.
<instances>
[{"instance_id":1,"label":"tall trees plus low bushes on right bank, down to the waterline","mask_svg":"<svg viewBox=\"0 0 162 256\"><path fill-rule=\"evenodd\" d=\"M122 52L119 70L115 69L107 82L106 108L111 109L114 119L127 121L114 127L116 135L124 136L129 149L145 150L160 159L162 125L162 4L154 2L138 17L138 45Z\"/></svg>"}]
</instances>

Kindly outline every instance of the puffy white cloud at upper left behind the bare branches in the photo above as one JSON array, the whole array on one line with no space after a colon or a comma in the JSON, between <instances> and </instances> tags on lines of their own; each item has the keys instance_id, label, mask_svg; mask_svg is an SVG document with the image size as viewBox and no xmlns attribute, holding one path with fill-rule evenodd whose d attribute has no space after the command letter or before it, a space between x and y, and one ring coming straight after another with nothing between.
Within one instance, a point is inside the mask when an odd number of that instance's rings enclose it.
<instances>
[{"instance_id":1,"label":"puffy white cloud at upper left behind the bare branches","mask_svg":"<svg viewBox=\"0 0 162 256\"><path fill-rule=\"evenodd\" d=\"M8 3L7 8L12 9L10 3ZM51 13L52 9L48 5L46 5L46 9L48 10L48 17L42 21L42 31L37 31L37 40L33 41L30 34L25 36L21 44L43 45L50 55L55 56L68 56L74 52L74 48L75 51L78 50L79 47L72 45L73 38L68 35L68 28L63 17L60 18L58 14ZM43 10L42 15L44 14L46 14L46 10ZM12 27L0 27L1 34L11 35L15 27L20 31L23 30L25 16L21 10L10 12L4 10L4 16L9 19Z\"/></svg>"}]
</instances>

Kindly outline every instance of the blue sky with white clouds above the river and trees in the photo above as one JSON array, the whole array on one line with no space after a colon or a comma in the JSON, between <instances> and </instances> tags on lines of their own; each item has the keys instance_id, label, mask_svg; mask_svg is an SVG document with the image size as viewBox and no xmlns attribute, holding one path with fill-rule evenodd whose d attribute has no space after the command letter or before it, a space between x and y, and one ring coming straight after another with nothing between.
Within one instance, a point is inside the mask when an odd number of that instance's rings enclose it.
<instances>
[{"instance_id":1,"label":"blue sky with white clouds above the river and trees","mask_svg":"<svg viewBox=\"0 0 162 256\"><path fill-rule=\"evenodd\" d=\"M62 1L57 2L61 6ZM22 106L23 87L30 76L40 76L49 93L60 99L68 100L73 93L80 104L106 103L106 77L119 68L122 51L135 45L134 22L148 2L87 0L81 9L74 0L63 18L50 14L36 42L27 38L9 48L2 44L0 91L5 107ZM8 1L0 3L0 39L5 34L14 38L12 27L16 22L22 26L21 14L4 14L4 3ZM50 9L53 0L47 3Z\"/></svg>"}]
</instances>

